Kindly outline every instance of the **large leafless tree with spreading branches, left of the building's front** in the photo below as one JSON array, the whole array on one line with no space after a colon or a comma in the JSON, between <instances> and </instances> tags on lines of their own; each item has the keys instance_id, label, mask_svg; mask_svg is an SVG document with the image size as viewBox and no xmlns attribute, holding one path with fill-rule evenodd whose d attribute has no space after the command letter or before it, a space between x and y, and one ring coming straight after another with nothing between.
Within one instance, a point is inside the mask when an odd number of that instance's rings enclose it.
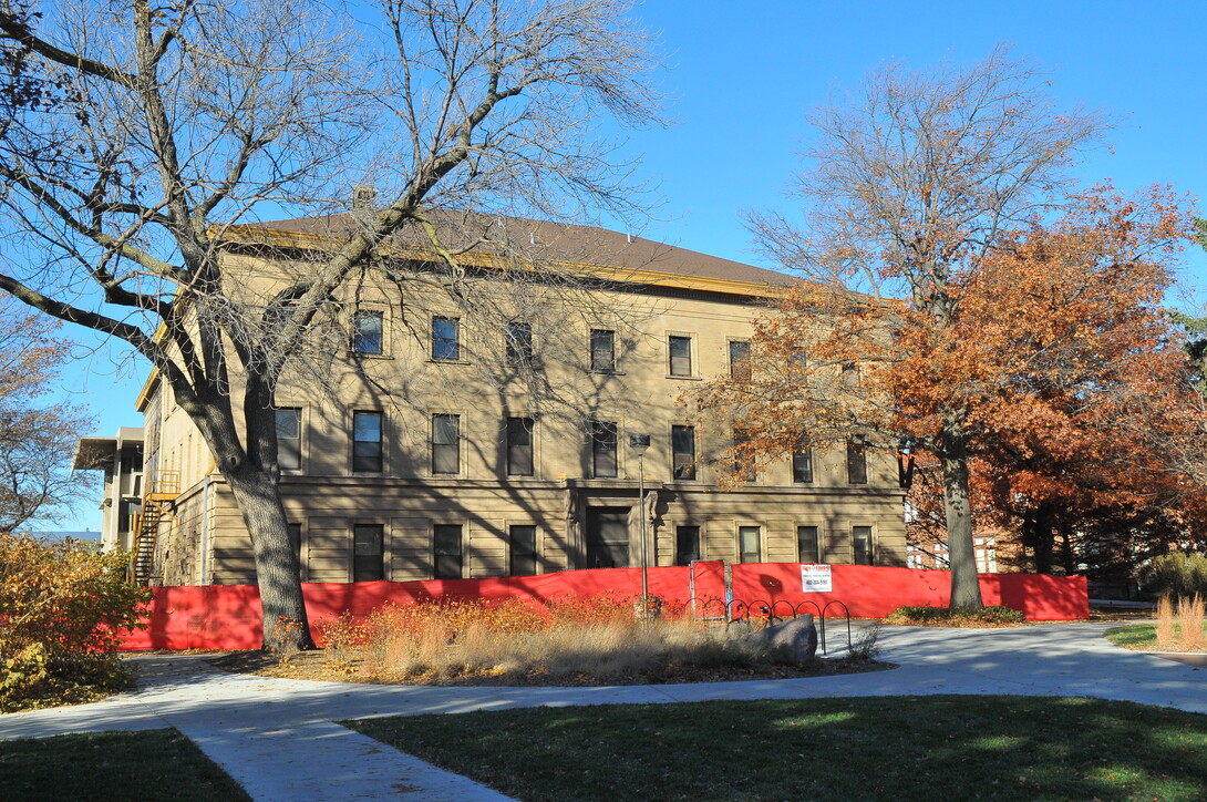
<instances>
[{"instance_id":1,"label":"large leafless tree with spreading branches, left of the building's front","mask_svg":"<svg viewBox=\"0 0 1207 802\"><path fill-rule=\"evenodd\" d=\"M466 216L449 245L442 211L639 213L596 126L658 122L649 40L625 0L380 11L363 24L309 0L69 0L36 24L0 14L2 36L69 88L4 122L0 289L126 341L170 385L243 511L268 646L282 617L309 645L273 396L316 341L346 345L346 332L331 339L337 296L378 272L468 302L466 254L492 238ZM229 267L235 227L246 242L264 216L344 208L361 181L381 203L272 291ZM385 257L400 238L437 258L402 271ZM490 249L524 258L497 238Z\"/></svg>"}]
</instances>

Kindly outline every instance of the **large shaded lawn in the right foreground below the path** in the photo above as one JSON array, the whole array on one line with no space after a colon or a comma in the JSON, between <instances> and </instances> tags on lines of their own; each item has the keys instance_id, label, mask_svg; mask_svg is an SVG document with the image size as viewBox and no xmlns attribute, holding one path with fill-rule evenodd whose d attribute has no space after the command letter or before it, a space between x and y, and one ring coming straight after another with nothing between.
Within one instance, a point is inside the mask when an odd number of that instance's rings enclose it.
<instances>
[{"instance_id":1,"label":"large shaded lawn in the right foreground below the path","mask_svg":"<svg viewBox=\"0 0 1207 802\"><path fill-rule=\"evenodd\" d=\"M1207 716L1127 702L706 702L346 726L526 802L1207 798Z\"/></svg>"}]
</instances>

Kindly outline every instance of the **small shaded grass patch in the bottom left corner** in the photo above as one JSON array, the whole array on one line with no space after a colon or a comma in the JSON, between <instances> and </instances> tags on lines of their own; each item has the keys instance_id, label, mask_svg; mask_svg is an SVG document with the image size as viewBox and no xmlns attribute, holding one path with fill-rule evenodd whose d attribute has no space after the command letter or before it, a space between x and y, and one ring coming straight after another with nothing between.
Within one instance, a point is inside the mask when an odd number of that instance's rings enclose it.
<instances>
[{"instance_id":1,"label":"small shaded grass patch in the bottom left corner","mask_svg":"<svg viewBox=\"0 0 1207 802\"><path fill-rule=\"evenodd\" d=\"M0 742L0 800L250 800L175 730Z\"/></svg>"}]
</instances>

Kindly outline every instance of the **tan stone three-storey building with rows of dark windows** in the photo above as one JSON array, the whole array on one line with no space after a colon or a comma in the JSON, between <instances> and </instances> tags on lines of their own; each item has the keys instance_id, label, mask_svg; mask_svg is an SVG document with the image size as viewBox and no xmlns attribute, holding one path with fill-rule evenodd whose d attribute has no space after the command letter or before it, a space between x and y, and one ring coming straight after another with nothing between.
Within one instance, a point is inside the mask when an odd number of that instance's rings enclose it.
<instances>
[{"instance_id":1,"label":"tan stone three-storey building with rows of dark windows","mask_svg":"<svg viewBox=\"0 0 1207 802\"><path fill-rule=\"evenodd\" d=\"M751 370L750 320L788 277L600 228L483 220L532 261L471 249L460 261L472 297L454 303L425 273L431 249L397 244L395 280L350 281L334 333L278 387L281 493L303 581L637 565L635 434L652 440L652 564L905 564L893 454L852 443L785 455L724 488L731 434L677 403L710 376ZM351 225L238 227L225 234L226 265L249 294L264 292ZM158 376L138 408L140 577L255 581L233 498Z\"/></svg>"}]
</instances>

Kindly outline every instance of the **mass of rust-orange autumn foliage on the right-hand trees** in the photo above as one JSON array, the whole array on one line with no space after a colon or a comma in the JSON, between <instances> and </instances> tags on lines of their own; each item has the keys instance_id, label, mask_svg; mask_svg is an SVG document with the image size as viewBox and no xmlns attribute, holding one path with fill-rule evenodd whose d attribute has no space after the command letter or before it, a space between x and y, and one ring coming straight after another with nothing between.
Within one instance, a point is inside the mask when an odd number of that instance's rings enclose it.
<instances>
[{"instance_id":1,"label":"mass of rust-orange autumn foliage on the right-hand trees","mask_svg":"<svg viewBox=\"0 0 1207 802\"><path fill-rule=\"evenodd\" d=\"M776 455L801 436L864 432L941 457L956 420L974 513L1015 525L1061 513L1045 530L1030 522L1040 570L1051 569L1044 539L1089 511L1161 508L1180 535L1194 519L1184 511L1207 507L1202 483L1167 458L1171 443L1207 451L1201 399L1161 307L1189 216L1158 188L1126 199L1097 187L1068 208L1001 236L974 267L952 266L932 285L941 298L799 286L757 322L753 377L704 388L701 418L736 419L752 454ZM841 370L851 362L853 383ZM1174 504L1183 512L1168 515Z\"/></svg>"}]
</instances>

